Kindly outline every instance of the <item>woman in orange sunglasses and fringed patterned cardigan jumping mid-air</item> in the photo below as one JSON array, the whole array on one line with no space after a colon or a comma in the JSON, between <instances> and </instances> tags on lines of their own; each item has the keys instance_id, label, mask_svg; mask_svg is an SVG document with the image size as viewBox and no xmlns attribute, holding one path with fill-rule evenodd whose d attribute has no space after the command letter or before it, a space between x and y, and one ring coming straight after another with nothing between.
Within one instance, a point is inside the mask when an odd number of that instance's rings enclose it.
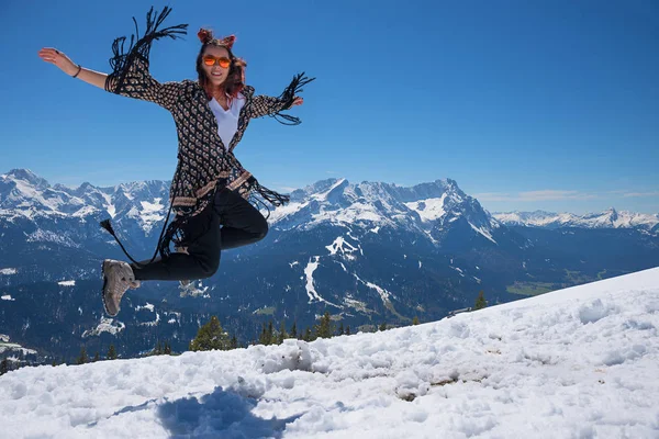
<instances>
[{"instance_id":1,"label":"woman in orange sunglasses and fringed patterned cardigan jumping mid-air","mask_svg":"<svg viewBox=\"0 0 659 439\"><path fill-rule=\"evenodd\" d=\"M187 33L188 26L160 29L170 12L166 7L157 14L152 8L145 34L134 44L131 40L126 53L123 52L126 38L114 41L110 75L82 68L55 48L38 53L44 61L74 78L116 94L157 103L176 122L178 165L169 194L169 213L174 211L176 217L167 226L167 215L153 258L135 261L116 238L110 221L101 223L133 261L103 261L102 297L111 316L119 313L125 291L138 288L141 281L209 278L220 266L221 249L253 244L266 236L268 223L249 201L264 204L265 200L278 206L289 199L260 185L242 167L233 149L250 119L270 115L283 119L280 122L284 124L299 124L299 119L280 112L302 104L295 93L313 80L297 75L278 98L254 95L254 88L243 83L245 63L232 53L235 37L217 40L202 29L198 33L202 43L197 56L198 79L159 83L148 71L152 43L163 37L177 38ZM175 252L169 250L172 241ZM156 257L158 251L160 256Z\"/></svg>"}]
</instances>

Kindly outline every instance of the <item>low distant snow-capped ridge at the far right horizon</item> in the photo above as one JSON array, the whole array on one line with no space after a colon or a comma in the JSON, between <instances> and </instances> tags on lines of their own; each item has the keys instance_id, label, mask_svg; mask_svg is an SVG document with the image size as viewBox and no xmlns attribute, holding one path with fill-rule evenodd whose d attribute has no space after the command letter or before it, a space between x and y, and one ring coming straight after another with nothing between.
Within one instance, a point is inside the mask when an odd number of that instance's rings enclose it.
<instances>
[{"instance_id":1,"label":"low distant snow-capped ridge at the far right horizon","mask_svg":"<svg viewBox=\"0 0 659 439\"><path fill-rule=\"evenodd\" d=\"M602 213L576 215L572 213L507 212L493 216L505 225L527 227L578 227L578 228L637 228L659 233L659 214L649 215L611 207Z\"/></svg>"}]
</instances>

